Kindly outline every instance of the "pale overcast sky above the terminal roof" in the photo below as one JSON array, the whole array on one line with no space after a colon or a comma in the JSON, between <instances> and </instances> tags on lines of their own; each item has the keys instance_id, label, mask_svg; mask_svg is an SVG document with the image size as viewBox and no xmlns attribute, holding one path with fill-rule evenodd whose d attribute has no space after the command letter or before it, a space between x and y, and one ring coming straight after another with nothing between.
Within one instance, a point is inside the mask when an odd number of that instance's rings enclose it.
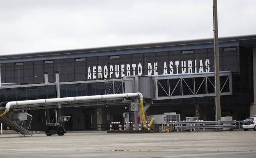
<instances>
[{"instance_id":1,"label":"pale overcast sky above the terminal roof","mask_svg":"<svg viewBox=\"0 0 256 158\"><path fill-rule=\"evenodd\" d=\"M0 55L213 38L212 0L0 0ZM219 37L256 34L256 0L218 0Z\"/></svg>"}]
</instances>

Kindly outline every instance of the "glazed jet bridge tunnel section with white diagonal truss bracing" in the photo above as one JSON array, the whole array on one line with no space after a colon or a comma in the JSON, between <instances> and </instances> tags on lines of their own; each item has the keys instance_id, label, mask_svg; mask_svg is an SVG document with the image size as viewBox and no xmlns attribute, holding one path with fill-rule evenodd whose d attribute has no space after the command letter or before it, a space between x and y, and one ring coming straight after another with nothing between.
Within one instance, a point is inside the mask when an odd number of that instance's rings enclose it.
<instances>
[{"instance_id":1,"label":"glazed jet bridge tunnel section with white diagonal truss bracing","mask_svg":"<svg viewBox=\"0 0 256 158\"><path fill-rule=\"evenodd\" d=\"M156 77L156 99L214 96L214 74ZM221 95L232 94L231 73L220 76Z\"/></svg>"}]
</instances>

